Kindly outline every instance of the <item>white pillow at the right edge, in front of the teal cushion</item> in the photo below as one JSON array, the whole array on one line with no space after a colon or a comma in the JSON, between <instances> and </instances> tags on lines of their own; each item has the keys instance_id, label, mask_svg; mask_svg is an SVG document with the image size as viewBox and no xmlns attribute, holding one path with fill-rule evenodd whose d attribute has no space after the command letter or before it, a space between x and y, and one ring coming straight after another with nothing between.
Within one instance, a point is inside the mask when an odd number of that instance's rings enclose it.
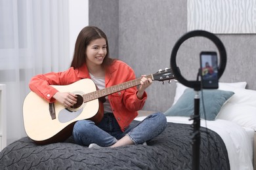
<instances>
[{"instance_id":1,"label":"white pillow at the right edge, in front of the teal cushion","mask_svg":"<svg viewBox=\"0 0 256 170\"><path fill-rule=\"evenodd\" d=\"M256 131L256 91L236 88L216 119L229 120Z\"/></svg>"}]
</instances>

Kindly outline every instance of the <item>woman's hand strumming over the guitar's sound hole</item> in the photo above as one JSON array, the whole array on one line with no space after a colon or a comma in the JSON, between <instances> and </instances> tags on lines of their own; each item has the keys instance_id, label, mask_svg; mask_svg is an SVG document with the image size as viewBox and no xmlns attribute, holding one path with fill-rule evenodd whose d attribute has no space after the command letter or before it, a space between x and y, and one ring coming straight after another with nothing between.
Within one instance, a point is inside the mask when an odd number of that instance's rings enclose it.
<instances>
[{"instance_id":1,"label":"woman's hand strumming over the guitar's sound hole","mask_svg":"<svg viewBox=\"0 0 256 170\"><path fill-rule=\"evenodd\" d=\"M70 92L56 92L53 95L53 98L56 99L59 103L64 105L64 107L72 107L77 102L76 95Z\"/></svg>"}]
</instances>

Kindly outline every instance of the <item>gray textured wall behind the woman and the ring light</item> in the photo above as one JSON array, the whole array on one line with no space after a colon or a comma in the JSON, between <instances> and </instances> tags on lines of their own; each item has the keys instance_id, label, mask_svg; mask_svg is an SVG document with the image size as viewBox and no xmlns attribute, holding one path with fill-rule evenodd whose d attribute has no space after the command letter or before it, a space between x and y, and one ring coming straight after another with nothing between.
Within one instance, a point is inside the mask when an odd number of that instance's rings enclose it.
<instances>
[{"instance_id":1,"label":"gray textured wall behind the woman and the ring light","mask_svg":"<svg viewBox=\"0 0 256 170\"><path fill-rule=\"evenodd\" d=\"M89 24L106 29L113 54L125 61L137 76L169 67L171 50L186 33L187 1L175 0L97 0L89 1ZM101 6L101 7L99 7ZM97 9L105 12L96 12ZM117 11L118 9L118 11ZM118 17L117 17L118 16ZM102 19L99 19L102 18ZM103 18L108 18L104 20ZM118 18L118 23L116 20ZM110 24L112 23L113 24ZM113 38L112 38L113 37ZM223 42L228 63L220 82L246 81L256 90L256 35L217 35ZM118 40L118 41L117 41ZM117 45L118 44L118 45ZM118 49L116 49L116 45ZM208 39L195 37L185 41L177 54L182 75L196 80L202 50L217 48ZM144 110L165 111L173 103L176 85L154 82L148 92Z\"/></svg>"}]
</instances>

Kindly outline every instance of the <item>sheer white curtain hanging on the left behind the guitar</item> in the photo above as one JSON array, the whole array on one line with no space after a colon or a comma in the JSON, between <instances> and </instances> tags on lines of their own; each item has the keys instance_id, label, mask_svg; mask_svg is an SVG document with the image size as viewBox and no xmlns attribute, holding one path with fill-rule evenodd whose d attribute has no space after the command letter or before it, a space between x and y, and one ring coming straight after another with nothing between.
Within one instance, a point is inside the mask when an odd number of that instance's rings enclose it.
<instances>
[{"instance_id":1,"label":"sheer white curtain hanging on the left behind the guitar","mask_svg":"<svg viewBox=\"0 0 256 170\"><path fill-rule=\"evenodd\" d=\"M0 84L7 85L7 144L26 136L22 103L32 76L70 65L68 0L0 0Z\"/></svg>"}]
</instances>

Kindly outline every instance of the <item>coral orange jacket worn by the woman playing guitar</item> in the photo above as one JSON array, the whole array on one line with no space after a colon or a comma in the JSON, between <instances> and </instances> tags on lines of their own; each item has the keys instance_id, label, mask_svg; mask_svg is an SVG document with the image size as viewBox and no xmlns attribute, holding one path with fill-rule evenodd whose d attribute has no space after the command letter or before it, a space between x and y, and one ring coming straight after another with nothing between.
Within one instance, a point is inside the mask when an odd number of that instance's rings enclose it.
<instances>
[{"instance_id":1,"label":"coral orange jacket worn by the woman playing guitar","mask_svg":"<svg viewBox=\"0 0 256 170\"><path fill-rule=\"evenodd\" d=\"M77 69L70 67L68 70L59 73L52 72L33 76L29 86L37 95L43 97L49 103L53 103L55 101L53 95L58 90L50 85L68 85L83 78L91 78L86 64ZM107 88L129 80L135 80L135 78L135 73L129 65L123 61L116 60L105 75L105 86ZM147 94L144 92L142 99L138 99L137 87L108 95L113 114L122 131L125 131L138 115L137 111L142 109L146 98Z\"/></svg>"}]
</instances>

